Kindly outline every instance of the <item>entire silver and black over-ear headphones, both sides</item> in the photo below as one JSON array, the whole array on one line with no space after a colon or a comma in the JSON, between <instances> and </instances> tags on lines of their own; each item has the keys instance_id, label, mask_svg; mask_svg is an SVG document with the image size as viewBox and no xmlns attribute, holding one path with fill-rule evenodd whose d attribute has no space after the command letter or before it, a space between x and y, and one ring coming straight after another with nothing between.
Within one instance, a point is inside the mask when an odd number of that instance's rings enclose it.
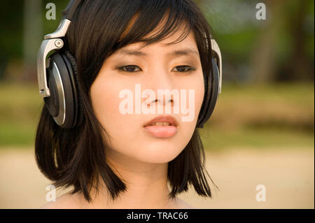
<instances>
[{"instance_id":1,"label":"entire silver and black over-ear headphones, both sides","mask_svg":"<svg viewBox=\"0 0 315 223\"><path fill-rule=\"evenodd\" d=\"M62 49L64 46L62 38L66 35L73 14L80 2L81 0L71 0L68 6L62 10L62 20L59 26L52 34L45 35L37 55L39 94L43 97L45 106L52 118L59 127L64 129L77 127L83 120L76 59L68 50ZM199 128L203 128L203 124L209 120L216 106L218 95L221 94L221 51L212 38L211 48L213 72L211 72L210 80L208 80L207 75L204 75L205 97L196 126ZM52 50L57 50L57 52L47 58ZM210 94L207 94L209 91L211 91Z\"/></svg>"}]
</instances>

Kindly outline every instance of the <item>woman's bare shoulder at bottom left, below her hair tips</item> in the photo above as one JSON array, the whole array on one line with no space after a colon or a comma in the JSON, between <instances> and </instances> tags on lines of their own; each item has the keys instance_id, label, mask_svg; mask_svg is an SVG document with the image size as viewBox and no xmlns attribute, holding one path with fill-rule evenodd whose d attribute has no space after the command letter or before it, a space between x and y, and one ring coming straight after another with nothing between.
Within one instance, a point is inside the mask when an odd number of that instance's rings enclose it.
<instances>
[{"instance_id":1,"label":"woman's bare shoulder at bottom left, below her hair tips","mask_svg":"<svg viewBox=\"0 0 315 223\"><path fill-rule=\"evenodd\" d=\"M76 209L80 208L76 194L62 194L56 201L49 201L39 209Z\"/></svg>"}]
</instances>

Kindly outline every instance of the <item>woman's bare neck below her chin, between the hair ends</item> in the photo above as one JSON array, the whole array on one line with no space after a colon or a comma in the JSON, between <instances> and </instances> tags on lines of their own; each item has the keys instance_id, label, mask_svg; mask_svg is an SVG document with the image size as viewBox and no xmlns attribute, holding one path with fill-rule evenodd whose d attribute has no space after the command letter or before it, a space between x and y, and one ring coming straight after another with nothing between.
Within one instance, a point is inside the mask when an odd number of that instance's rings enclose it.
<instances>
[{"instance_id":1,"label":"woman's bare neck below her chin, between the hair ends","mask_svg":"<svg viewBox=\"0 0 315 223\"><path fill-rule=\"evenodd\" d=\"M127 187L114 201L99 177L99 192L91 190L92 202L86 208L172 208L176 199L168 198L168 163L151 164L127 159L118 152L106 151L106 161ZM83 197L83 194L81 194Z\"/></svg>"}]
</instances>

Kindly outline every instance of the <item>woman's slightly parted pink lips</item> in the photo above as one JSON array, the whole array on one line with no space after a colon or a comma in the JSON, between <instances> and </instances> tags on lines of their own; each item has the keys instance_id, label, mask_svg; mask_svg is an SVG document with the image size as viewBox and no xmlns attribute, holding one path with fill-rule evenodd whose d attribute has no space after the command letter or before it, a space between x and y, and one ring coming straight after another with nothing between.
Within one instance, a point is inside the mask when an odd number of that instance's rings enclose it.
<instances>
[{"instance_id":1,"label":"woman's slightly parted pink lips","mask_svg":"<svg viewBox=\"0 0 315 223\"><path fill-rule=\"evenodd\" d=\"M155 138L170 138L177 132L177 122L170 115L160 115L144 124L144 129Z\"/></svg>"}]
</instances>

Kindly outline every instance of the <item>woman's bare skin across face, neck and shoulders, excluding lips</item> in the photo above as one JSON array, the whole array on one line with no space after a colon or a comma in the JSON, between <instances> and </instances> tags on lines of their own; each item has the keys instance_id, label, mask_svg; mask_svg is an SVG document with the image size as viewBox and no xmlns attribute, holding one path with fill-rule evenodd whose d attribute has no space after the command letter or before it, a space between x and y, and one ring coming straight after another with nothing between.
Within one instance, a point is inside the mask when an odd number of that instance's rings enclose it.
<instances>
[{"instance_id":1,"label":"woman's bare skin across face, neck and shoulders, excluding lips","mask_svg":"<svg viewBox=\"0 0 315 223\"><path fill-rule=\"evenodd\" d=\"M157 27L156 29L160 29ZM204 80L199 55L167 56L169 52L191 48L198 52L193 33L180 43L165 45L176 40L179 30L165 40L148 45L141 52L147 56L119 55L115 52L106 58L99 75L90 89L92 107L107 134L104 140L110 148L106 150L106 161L127 185L127 192L120 194L116 201L110 201L106 187L102 185L99 194L92 189L92 203L87 203L83 194L64 194L57 201L41 208L193 208L181 199L169 200L167 187L168 162L175 159L193 136L197 116L204 96ZM125 50L137 50L141 43L127 45ZM120 49L122 50L122 49ZM118 50L119 51L119 50ZM124 72L117 67L137 65L132 72ZM179 72L176 66L193 66L195 71ZM126 69L126 68L125 68ZM185 69L182 69L185 71ZM137 72L134 72L137 71ZM155 138L148 134L143 125L160 114L130 114L119 112L119 92L122 89L135 91L135 84L141 84L141 91L153 89L195 89L195 117L191 122L181 120L184 114L171 114L178 122L178 131L171 138ZM141 102L146 99L141 99ZM172 107L178 101L172 101ZM151 106L151 105L148 105ZM165 103L163 104L165 106ZM172 110L173 111L173 110ZM102 178L100 181L102 182Z\"/></svg>"}]
</instances>

